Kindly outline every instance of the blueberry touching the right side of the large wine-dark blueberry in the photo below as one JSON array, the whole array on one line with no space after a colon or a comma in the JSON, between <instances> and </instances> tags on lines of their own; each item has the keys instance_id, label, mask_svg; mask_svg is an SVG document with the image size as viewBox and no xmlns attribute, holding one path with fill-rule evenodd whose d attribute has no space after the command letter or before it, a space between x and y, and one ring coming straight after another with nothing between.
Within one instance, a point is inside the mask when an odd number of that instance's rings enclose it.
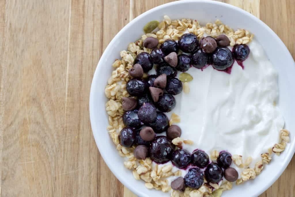
<instances>
[{"instance_id":1,"label":"blueberry touching the right side of the large wine-dark blueberry","mask_svg":"<svg viewBox=\"0 0 295 197\"><path fill-rule=\"evenodd\" d=\"M191 162L191 154L184 149L178 149L173 152L172 163L178 168L186 168Z\"/></svg>"}]
</instances>

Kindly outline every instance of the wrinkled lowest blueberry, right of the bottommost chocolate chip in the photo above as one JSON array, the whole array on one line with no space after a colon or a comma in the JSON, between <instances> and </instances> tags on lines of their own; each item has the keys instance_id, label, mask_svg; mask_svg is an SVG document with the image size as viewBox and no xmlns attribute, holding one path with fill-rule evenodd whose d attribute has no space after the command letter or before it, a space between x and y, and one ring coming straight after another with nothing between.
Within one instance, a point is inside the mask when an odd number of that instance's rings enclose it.
<instances>
[{"instance_id":1,"label":"wrinkled lowest blueberry, right of the bottommost chocolate chip","mask_svg":"<svg viewBox=\"0 0 295 197\"><path fill-rule=\"evenodd\" d=\"M184 183L186 187L199 189L204 183L203 173L199 168L191 168L184 176Z\"/></svg>"}]
</instances>

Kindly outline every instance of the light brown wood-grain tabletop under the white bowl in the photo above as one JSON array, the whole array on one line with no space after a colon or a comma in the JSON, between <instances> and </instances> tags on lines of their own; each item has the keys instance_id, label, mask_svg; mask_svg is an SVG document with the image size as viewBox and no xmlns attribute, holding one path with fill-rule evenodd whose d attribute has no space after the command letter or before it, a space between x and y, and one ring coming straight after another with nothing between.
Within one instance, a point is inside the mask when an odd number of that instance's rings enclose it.
<instances>
[{"instance_id":1,"label":"light brown wood-grain tabletop under the white bowl","mask_svg":"<svg viewBox=\"0 0 295 197\"><path fill-rule=\"evenodd\" d=\"M224 1L260 17L295 57L294 0ZM2 196L133 196L99 155L89 90L114 35L167 2L0 1ZM294 165L261 196L295 196Z\"/></svg>"}]
</instances>

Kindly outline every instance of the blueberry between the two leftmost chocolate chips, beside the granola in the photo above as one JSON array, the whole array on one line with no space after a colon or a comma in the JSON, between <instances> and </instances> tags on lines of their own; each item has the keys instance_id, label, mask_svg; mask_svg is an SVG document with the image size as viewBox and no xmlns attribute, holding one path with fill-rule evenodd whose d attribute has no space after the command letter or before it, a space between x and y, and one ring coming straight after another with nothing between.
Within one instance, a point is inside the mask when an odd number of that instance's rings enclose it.
<instances>
[{"instance_id":1,"label":"blueberry between the two leftmost chocolate chips, beside the granola","mask_svg":"<svg viewBox=\"0 0 295 197\"><path fill-rule=\"evenodd\" d=\"M148 85L142 79L133 78L127 82L126 90L131 96L140 96L147 92Z\"/></svg>"}]
</instances>

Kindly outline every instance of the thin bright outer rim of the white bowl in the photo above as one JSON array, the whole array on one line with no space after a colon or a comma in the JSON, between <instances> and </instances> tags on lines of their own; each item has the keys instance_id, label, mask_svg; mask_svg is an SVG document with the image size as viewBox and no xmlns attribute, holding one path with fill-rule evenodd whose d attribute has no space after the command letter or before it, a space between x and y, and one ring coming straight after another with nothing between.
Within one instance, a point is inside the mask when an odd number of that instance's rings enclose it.
<instances>
[{"instance_id":1,"label":"thin bright outer rim of the white bowl","mask_svg":"<svg viewBox=\"0 0 295 197\"><path fill-rule=\"evenodd\" d=\"M89 114L90 114L90 123L91 123L91 128L92 128L92 133L93 133L93 136L94 136L94 139L95 139L95 142L96 142L96 146L98 147L99 149L99 152L102 156L102 158L104 159L104 162L106 162L106 165L109 167L109 169L112 171L112 173L115 175L115 177L125 186L127 187L130 191L132 191L133 193L135 193L137 196L142 196L142 193L139 189L137 188L134 188L134 187L131 187L131 185L129 185L127 183L127 180L124 178L124 176L122 174L119 174L119 173L115 173L116 172L116 169L115 167L113 167L113 165L111 165L111 159L107 159L107 152L103 152L103 151L100 151L101 149L103 149L104 147L100 147L100 144L99 144L99 136L96 135L96 133L94 132L94 129L93 129L93 125L94 125L94 122L96 121L95 120L95 117L94 117L94 108L93 108L93 105L94 105L94 89L97 88L97 85L94 83L94 81L96 81L96 78L99 77L99 73L101 71L101 69L103 68L103 66L101 66L100 64L102 64L102 59L104 59L106 56L107 56L107 51L109 51L109 49L111 48L111 46L114 44L115 40L120 37L123 32L125 31L125 29L128 29L130 26L132 26L135 21L139 20L139 19L142 19L143 17L145 17L147 14L149 14L150 12L154 12L154 11L157 11L157 10L160 10L162 8L165 8L165 7L168 7L168 6L171 6L171 5L174 5L174 4L185 4L185 3L188 3L188 2L200 2L200 3L207 3L207 4L215 4L215 5L220 5L220 6L224 6L224 7L227 7L229 9L235 9L237 10L238 12L242 12L243 14L245 14L247 17L250 17L251 19L255 20L256 22L258 22L261 26L263 26L264 28L267 29L267 31L272 34L272 36L274 36L277 40L278 40L278 43L280 45L283 46L283 49L284 49L284 53L286 54L286 56L289 56L289 58L293 59L293 57L291 56L291 53L289 52L289 50L287 49L286 45L283 43L283 41L278 37L278 35L276 35L276 33L270 28L268 27L268 25L266 25L263 21L261 21L260 19L258 19L257 17L255 17L253 14L250 14L248 12L246 12L245 10L239 8L239 7L236 7L236 6L233 6L233 5L230 5L230 4L226 4L226 3L222 3L222 2L218 2L218 1L208 1L208 0L182 0L182 1L174 1L174 2L170 2L170 3L166 3L166 4L162 4L160 6L157 6L157 7L154 7L142 14L140 14L139 16L137 16L136 18L132 19L132 21L130 21L127 25L125 25L116 35L115 37L111 40L111 42L107 45L106 49L104 50L102 56L100 57L99 59L99 62L96 66L96 69L95 69L95 72L94 72L94 76L93 76L93 79L92 79L92 82L91 82L91 89L90 89L90 97L89 97ZM293 59L294 61L294 59ZM295 62L294 62L295 64ZM291 144L290 144L291 146ZM266 191L271 185L273 185L273 183L281 176L281 174L283 173L283 171L286 169L286 167L289 165L293 155L294 155L294 152L295 152L295 146L292 146L290 147L291 151L290 153L292 154L289 154L289 155L286 155L287 159L286 159L286 162L283 164L283 167L280 168L279 170L279 173L272 178L271 181L268 182L268 184L265 186L265 187L261 187L257 190L257 193L256 195L259 196L260 194L262 194L264 191Z\"/></svg>"}]
</instances>

